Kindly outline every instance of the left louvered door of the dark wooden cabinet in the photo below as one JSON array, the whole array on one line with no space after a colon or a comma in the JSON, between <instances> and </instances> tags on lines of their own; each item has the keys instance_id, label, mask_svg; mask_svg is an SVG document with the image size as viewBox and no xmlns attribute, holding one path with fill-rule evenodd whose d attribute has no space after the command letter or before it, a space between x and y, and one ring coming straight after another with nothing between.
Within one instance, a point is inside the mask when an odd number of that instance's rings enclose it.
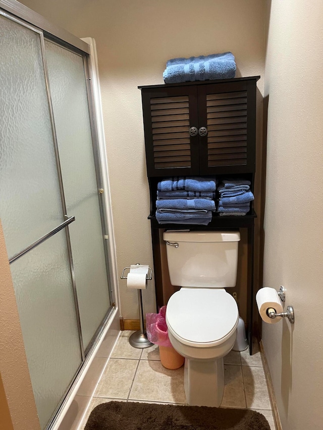
<instances>
[{"instance_id":1,"label":"left louvered door of the dark wooden cabinet","mask_svg":"<svg viewBox=\"0 0 323 430\"><path fill-rule=\"evenodd\" d=\"M148 176L199 174L195 86L142 89Z\"/></svg>"}]
</instances>

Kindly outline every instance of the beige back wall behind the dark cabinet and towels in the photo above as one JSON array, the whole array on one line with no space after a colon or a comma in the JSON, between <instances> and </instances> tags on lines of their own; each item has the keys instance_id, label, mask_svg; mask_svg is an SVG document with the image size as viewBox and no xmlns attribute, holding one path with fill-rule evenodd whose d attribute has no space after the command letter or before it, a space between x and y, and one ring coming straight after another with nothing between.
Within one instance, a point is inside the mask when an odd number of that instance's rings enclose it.
<instances>
[{"instance_id":1,"label":"beige back wall behind the dark cabinet and towels","mask_svg":"<svg viewBox=\"0 0 323 430\"><path fill-rule=\"evenodd\" d=\"M138 85L162 84L169 58L224 52L237 76L263 74L264 0L22 0L98 51L118 271L152 265L148 183ZM262 81L258 82L262 88ZM259 115L260 116L260 115ZM138 318L137 293L120 282L121 314ZM152 282L144 312L155 311Z\"/></svg>"}]
</instances>

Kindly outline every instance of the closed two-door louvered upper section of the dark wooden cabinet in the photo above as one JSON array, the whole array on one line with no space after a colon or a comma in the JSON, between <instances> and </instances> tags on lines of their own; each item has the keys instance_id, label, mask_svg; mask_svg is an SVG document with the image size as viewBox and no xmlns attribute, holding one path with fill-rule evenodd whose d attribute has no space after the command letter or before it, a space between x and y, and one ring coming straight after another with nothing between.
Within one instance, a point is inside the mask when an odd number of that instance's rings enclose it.
<instances>
[{"instance_id":1,"label":"closed two-door louvered upper section of the dark wooden cabinet","mask_svg":"<svg viewBox=\"0 0 323 430\"><path fill-rule=\"evenodd\" d=\"M254 172L258 79L139 87L148 177Z\"/></svg>"}]
</instances>

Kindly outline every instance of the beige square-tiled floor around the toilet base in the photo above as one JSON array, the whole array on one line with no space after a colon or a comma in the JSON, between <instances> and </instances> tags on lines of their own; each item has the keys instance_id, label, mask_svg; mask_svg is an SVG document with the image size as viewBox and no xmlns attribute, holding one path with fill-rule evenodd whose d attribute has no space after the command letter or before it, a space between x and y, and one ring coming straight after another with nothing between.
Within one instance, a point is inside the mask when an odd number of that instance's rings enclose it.
<instances>
[{"instance_id":1,"label":"beige square-tiled floor around the toilet base","mask_svg":"<svg viewBox=\"0 0 323 430\"><path fill-rule=\"evenodd\" d=\"M160 363L156 345L136 349L129 344L132 331L124 331L107 362L80 426L84 429L91 410L112 400L124 402L185 404L184 367L168 370ZM262 413L275 430L260 352L254 343L248 350L231 351L225 358L225 390L221 407L249 408Z\"/></svg>"}]
</instances>

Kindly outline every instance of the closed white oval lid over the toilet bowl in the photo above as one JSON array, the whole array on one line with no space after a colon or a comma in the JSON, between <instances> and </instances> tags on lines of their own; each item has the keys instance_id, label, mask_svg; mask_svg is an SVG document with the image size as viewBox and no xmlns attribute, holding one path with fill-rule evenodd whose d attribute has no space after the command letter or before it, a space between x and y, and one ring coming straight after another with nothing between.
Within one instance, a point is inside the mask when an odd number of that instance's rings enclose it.
<instances>
[{"instance_id":1,"label":"closed white oval lid over the toilet bowl","mask_svg":"<svg viewBox=\"0 0 323 430\"><path fill-rule=\"evenodd\" d=\"M237 303L224 289L182 288L167 304L169 331L187 345L220 344L236 329L238 321Z\"/></svg>"}]
</instances>

